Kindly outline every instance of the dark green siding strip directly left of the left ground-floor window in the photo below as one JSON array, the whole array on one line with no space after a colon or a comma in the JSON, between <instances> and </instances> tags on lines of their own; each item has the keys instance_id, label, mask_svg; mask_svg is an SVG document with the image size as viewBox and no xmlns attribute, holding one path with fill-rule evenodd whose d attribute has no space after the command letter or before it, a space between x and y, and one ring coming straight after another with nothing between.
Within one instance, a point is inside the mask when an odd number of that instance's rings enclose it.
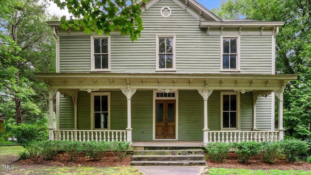
<instances>
[{"instance_id":1,"label":"dark green siding strip directly left of the left ground-floor window","mask_svg":"<svg viewBox=\"0 0 311 175\"><path fill-rule=\"evenodd\" d=\"M91 95L88 92L78 92L78 129L91 129Z\"/></svg>"}]
</instances>

